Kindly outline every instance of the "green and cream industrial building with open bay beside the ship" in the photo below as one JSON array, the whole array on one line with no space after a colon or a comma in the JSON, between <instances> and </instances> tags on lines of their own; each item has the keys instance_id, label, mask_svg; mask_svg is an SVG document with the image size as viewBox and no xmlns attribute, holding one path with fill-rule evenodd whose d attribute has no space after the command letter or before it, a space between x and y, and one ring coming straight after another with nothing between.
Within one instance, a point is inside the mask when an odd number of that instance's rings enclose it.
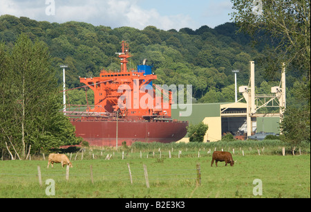
<instances>
[{"instance_id":1,"label":"green and cream industrial building with open bay beside the ship","mask_svg":"<svg viewBox=\"0 0 311 212\"><path fill-rule=\"evenodd\" d=\"M171 109L172 118L179 121L189 121L189 124L207 123L209 128L205 134L204 141L220 141L223 134L247 133L247 104L246 103L206 103L181 105L182 108L191 107L190 116L180 116L180 111ZM252 134L256 132L274 132L279 134L279 116L270 116L270 114L260 114L252 117ZM245 136L246 138L246 136ZM187 137L182 141L189 141Z\"/></svg>"}]
</instances>

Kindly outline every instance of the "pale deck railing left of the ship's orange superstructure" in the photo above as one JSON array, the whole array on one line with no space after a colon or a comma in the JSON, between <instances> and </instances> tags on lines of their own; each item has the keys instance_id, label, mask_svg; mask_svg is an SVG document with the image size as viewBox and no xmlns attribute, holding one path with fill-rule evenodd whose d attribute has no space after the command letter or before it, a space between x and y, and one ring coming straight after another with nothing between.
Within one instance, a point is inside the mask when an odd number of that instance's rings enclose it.
<instances>
[{"instance_id":1,"label":"pale deck railing left of the ship's orange superstructure","mask_svg":"<svg viewBox=\"0 0 311 212\"><path fill-rule=\"evenodd\" d=\"M66 105L63 113L70 117L111 117L111 113L107 112L102 105Z\"/></svg>"}]
</instances>

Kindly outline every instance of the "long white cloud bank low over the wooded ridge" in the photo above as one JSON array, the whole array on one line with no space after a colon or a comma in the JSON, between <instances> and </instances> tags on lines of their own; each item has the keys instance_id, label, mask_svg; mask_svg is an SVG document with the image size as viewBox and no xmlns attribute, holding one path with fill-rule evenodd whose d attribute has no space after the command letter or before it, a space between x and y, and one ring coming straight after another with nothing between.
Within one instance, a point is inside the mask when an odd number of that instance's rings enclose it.
<instances>
[{"instance_id":1,"label":"long white cloud bank low over the wooded ridge","mask_svg":"<svg viewBox=\"0 0 311 212\"><path fill-rule=\"evenodd\" d=\"M50 2L53 0L48 0ZM83 21L95 26L131 26L143 29L146 26L179 30L193 24L188 15L160 15L156 9L145 10L140 0L54 0L55 15L46 15L46 0L0 0L0 15L30 17L38 21L64 23Z\"/></svg>"}]
</instances>

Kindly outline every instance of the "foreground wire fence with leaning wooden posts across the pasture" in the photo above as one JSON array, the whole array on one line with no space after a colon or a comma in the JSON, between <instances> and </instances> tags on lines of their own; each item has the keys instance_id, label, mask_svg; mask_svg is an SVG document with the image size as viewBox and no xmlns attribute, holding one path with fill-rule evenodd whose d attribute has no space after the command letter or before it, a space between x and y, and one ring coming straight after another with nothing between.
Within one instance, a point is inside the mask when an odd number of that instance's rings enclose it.
<instances>
[{"instance_id":1,"label":"foreground wire fence with leaning wooden posts across the pasture","mask_svg":"<svg viewBox=\"0 0 311 212\"><path fill-rule=\"evenodd\" d=\"M54 179L59 182L115 182L115 183L131 183L131 184L146 184L149 187L150 182L182 182L185 180L200 182L200 165L196 168L148 168L145 164L141 168L134 166L131 168L127 164L127 168L104 168L98 166L90 166L87 170L86 167L82 171L73 170L70 173L69 166L62 169L42 168L37 166L37 171L32 168L33 173L0 173L0 183L17 183L17 182L38 182L41 185L42 179ZM28 170L29 172L29 170Z\"/></svg>"}]
</instances>

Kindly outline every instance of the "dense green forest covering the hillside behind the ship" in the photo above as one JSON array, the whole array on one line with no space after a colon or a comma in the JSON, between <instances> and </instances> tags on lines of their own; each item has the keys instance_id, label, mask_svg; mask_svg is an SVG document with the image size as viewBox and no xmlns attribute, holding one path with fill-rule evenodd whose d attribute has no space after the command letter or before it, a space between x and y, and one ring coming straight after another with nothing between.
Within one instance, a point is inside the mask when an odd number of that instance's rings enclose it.
<instances>
[{"instance_id":1,"label":"dense green forest covering the hillside behind the ship","mask_svg":"<svg viewBox=\"0 0 311 212\"><path fill-rule=\"evenodd\" d=\"M234 73L238 86L248 85L249 61L256 67L256 93L270 94L270 87L278 86L281 78L281 64L274 74L265 65L266 45L252 45L249 35L237 33L234 23L225 23L215 28L201 26L194 30L181 28L160 30L147 26L144 30L130 27L111 28L93 26L84 22L68 21L64 24L35 21L28 17L2 15L0 17L0 41L8 50L13 48L17 37L25 33L30 39L42 41L48 46L52 57L50 70L56 73L62 84L61 64L66 69L66 87L82 86L80 77L99 76L102 69L118 71L120 60L115 53L120 52L121 42L129 43L132 58L131 69L142 64L153 66L158 76L158 85L192 85L193 103L219 103L234 101ZM301 80L294 67L286 76L287 103L294 103L291 92ZM39 83L39 82L38 82ZM86 104L84 89L68 92L70 104ZM238 98L242 96L238 94ZM88 100L92 100L88 95Z\"/></svg>"}]
</instances>

